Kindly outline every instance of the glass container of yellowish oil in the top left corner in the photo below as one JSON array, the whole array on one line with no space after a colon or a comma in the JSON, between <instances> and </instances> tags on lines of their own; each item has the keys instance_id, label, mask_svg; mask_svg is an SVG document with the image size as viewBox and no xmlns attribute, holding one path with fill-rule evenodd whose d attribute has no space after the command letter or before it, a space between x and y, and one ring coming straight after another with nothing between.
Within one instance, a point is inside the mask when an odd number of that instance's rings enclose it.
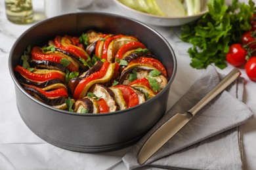
<instances>
[{"instance_id":1,"label":"glass container of yellowish oil in the top left corner","mask_svg":"<svg viewBox=\"0 0 256 170\"><path fill-rule=\"evenodd\" d=\"M33 22L32 0L5 0L7 19L15 24Z\"/></svg>"}]
</instances>

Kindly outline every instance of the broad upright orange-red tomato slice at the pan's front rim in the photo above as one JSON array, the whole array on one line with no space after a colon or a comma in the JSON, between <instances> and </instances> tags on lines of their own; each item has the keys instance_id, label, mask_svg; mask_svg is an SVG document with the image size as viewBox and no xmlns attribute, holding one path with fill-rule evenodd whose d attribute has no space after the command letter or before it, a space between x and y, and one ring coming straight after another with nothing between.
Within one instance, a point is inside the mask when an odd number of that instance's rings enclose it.
<instances>
[{"instance_id":1,"label":"broad upright orange-red tomato slice at the pan's front rim","mask_svg":"<svg viewBox=\"0 0 256 170\"><path fill-rule=\"evenodd\" d=\"M121 92L123 93L123 99L126 101L128 108L139 105L139 97L131 87L121 84L114 87L121 90Z\"/></svg>"}]
</instances>

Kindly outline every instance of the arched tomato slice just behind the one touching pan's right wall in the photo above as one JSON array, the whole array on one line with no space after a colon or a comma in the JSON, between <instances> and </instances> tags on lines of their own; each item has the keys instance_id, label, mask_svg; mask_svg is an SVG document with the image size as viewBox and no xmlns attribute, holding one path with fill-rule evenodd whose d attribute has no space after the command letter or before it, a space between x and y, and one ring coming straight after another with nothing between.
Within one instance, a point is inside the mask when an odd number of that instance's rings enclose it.
<instances>
[{"instance_id":1,"label":"arched tomato slice just behind the one touching pan's right wall","mask_svg":"<svg viewBox=\"0 0 256 170\"><path fill-rule=\"evenodd\" d=\"M129 42L127 44L124 44L123 46L121 46L121 48L119 48L119 50L116 53L115 58L119 58L119 59L123 59L123 56L126 52L130 51L130 50L135 50L137 48L146 48L146 46L144 46L144 44L142 44L139 41L135 41L135 42Z\"/></svg>"}]
</instances>

